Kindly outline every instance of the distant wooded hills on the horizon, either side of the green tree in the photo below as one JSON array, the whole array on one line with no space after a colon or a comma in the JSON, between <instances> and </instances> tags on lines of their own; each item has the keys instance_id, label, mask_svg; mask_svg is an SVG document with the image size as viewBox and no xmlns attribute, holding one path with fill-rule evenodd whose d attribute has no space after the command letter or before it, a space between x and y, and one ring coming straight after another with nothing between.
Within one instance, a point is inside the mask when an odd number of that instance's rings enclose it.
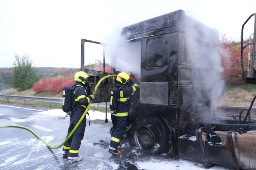
<instances>
[{"instance_id":1,"label":"distant wooded hills on the horizon, either side of the green tree","mask_svg":"<svg viewBox=\"0 0 256 170\"><path fill-rule=\"evenodd\" d=\"M56 77L58 75L74 74L80 71L80 68L57 68L57 67L34 67L40 79ZM12 67L0 67L0 90L12 87Z\"/></svg>"}]
</instances>

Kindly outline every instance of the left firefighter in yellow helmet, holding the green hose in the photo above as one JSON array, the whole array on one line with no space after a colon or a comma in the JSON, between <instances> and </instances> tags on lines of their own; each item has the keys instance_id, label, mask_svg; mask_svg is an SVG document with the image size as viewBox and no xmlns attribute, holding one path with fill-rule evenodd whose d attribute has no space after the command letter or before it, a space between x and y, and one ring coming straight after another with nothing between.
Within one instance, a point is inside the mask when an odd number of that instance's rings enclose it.
<instances>
[{"instance_id":1,"label":"left firefighter in yellow helmet, holding the green hose","mask_svg":"<svg viewBox=\"0 0 256 170\"><path fill-rule=\"evenodd\" d=\"M73 106L72 111L70 115L70 123L68 127L68 135L71 133L71 131L76 126L76 123L80 120L82 117L84 111L86 110L87 105L91 100L95 99L95 95L87 95L86 87L89 85L87 78L89 75L83 71L79 71L75 74L75 84L72 86L71 90L74 95L72 95L73 100ZM88 114L88 112L87 112ZM67 157L69 159L69 162L77 162L81 161L83 158L82 156L79 156L79 148L81 145L81 141L84 136L84 131L86 127L86 116L74 132L71 138L64 144L63 146L63 157Z\"/></svg>"}]
</instances>

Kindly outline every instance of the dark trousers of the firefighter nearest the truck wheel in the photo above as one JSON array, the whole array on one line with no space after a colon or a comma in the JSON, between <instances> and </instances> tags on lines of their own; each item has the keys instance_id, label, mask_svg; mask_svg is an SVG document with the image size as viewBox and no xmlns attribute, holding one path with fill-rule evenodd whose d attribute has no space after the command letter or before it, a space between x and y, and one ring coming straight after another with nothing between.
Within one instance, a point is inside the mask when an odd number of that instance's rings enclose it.
<instances>
[{"instance_id":1,"label":"dark trousers of the firefighter nearest the truck wheel","mask_svg":"<svg viewBox=\"0 0 256 170\"><path fill-rule=\"evenodd\" d=\"M117 149L118 143L120 143L120 140L123 136L123 132L127 126L127 117L128 116L111 115L113 131L112 131L111 141L109 143L110 147Z\"/></svg>"}]
</instances>

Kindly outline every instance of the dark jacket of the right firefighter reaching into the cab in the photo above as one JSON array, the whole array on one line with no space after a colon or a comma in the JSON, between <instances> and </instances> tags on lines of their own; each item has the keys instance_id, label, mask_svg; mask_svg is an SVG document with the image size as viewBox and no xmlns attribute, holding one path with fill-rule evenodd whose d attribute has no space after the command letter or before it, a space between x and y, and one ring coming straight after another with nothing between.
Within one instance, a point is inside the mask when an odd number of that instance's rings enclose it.
<instances>
[{"instance_id":1,"label":"dark jacket of the right firefighter reaching into the cab","mask_svg":"<svg viewBox=\"0 0 256 170\"><path fill-rule=\"evenodd\" d=\"M129 99L138 88L138 84L128 86L119 82L111 88L109 107L114 116L128 116Z\"/></svg>"}]
</instances>

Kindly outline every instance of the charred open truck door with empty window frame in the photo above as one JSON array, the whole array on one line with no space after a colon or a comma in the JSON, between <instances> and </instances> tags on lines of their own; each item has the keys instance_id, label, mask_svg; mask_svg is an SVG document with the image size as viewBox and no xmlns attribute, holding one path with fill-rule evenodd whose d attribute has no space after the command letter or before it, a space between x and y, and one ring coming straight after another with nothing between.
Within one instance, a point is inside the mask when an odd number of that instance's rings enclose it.
<instances>
[{"instance_id":1,"label":"charred open truck door with empty window frame","mask_svg":"<svg viewBox=\"0 0 256 170\"><path fill-rule=\"evenodd\" d=\"M106 55L105 44L82 39L81 41L81 71L89 75L88 82L91 85L90 92L101 78L106 75L115 74L111 67L111 59ZM114 78L105 79L100 84L96 93L96 99L93 103L109 102L110 89L113 87Z\"/></svg>"}]
</instances>

